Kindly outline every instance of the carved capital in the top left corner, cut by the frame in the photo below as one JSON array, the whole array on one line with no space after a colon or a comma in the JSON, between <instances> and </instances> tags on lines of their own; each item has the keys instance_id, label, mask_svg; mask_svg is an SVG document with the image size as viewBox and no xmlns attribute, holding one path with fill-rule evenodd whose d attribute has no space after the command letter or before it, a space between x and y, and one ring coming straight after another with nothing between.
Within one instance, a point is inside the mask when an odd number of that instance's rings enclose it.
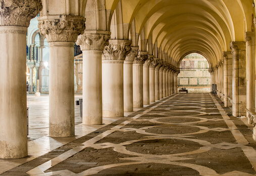
<instances>
[{"instance_id":1,"label":"carved capital in the top left corner, cut by the frame","mask_svg":"<svg viewBox=\"0 0 256 176\"><path fill-rule=\"evenodd\" d=\"M28 27L41 10L41 0L1 0L0 26Z\"/></svg>"}]
</instances>

